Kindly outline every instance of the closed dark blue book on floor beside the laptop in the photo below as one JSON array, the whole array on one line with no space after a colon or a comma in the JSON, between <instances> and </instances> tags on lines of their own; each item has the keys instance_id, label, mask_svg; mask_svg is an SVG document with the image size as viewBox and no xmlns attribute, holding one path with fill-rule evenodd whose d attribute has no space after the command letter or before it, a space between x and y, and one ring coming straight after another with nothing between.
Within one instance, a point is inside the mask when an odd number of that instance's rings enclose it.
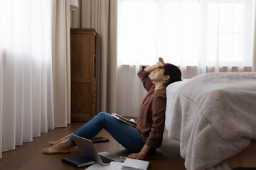
<instances>
[{"instance_id":1,"label":"closed dark blue book on floor beside the laptop","mask_svg":"<svg viewBox=\"0 0 256 170\"><path fill-rule=\"evenodd\" d=\"M95 161L93 159L89 159L87 157L82 157L80 155L64 157L61 160L62 160L62 162L65 162L66 164L73 165L77 168L95 163Z\"/></svg>"}]
</instances>

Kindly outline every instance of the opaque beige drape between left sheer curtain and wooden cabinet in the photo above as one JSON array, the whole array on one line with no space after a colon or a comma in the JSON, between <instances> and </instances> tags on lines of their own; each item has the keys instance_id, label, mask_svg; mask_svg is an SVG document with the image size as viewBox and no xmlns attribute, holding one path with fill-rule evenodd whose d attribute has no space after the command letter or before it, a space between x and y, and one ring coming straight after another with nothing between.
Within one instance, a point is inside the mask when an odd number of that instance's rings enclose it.
<instances>
[{"instance_id":1,"label":"opaque beige drape between left sheer curtain and wooden cabinet","mask_svg":"<svg viewBox=\"0 0 256 170\"><path fill-rule=\"evenodd\" d=\"M70 1L52 3L53 98L55 128L70 123Z\"/></svg>"}]
</instances>

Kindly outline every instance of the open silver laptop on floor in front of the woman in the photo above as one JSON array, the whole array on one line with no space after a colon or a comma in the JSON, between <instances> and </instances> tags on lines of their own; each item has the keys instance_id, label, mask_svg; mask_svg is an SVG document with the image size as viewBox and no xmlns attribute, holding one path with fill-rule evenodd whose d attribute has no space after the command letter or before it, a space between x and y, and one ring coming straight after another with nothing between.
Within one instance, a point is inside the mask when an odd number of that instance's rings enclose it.
<instances>
[{"instance_id":1,"label":"open silver laptop on floor in front of the woman","mask_svg":"<svg viewBox=\"0 0 256 170\"><path fill-rule=\"evenodd\" d=\"M97 153L94 145L91 140L87 140L83 137L77 135L71 135L73 140L75 140L75 144L78 145L78 148L85 154L86 157L90 157L94 159L97 164L101 165L109 165L110 162L124 162L124 158L118 157L117 155L110 154L109 152L99 152Z\"/></svg>"}]
</instances>

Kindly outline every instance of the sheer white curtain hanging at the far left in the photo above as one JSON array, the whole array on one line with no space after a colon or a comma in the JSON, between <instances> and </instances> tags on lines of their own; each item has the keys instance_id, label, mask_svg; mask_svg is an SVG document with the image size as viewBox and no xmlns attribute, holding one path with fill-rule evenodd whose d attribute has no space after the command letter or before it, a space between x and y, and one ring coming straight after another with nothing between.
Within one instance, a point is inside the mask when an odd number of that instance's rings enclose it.
<instances>
[{"instance_id":1,"label":"sheer white curtain hanging at the far left","mask_svg":"<svg viewBox=\"0 0 256 170\"><path fill-rule=\"evenodd\" d=\"M0 0L0 157L54 128L50 17L50 0Z\"/></svg>"}]
</instances>

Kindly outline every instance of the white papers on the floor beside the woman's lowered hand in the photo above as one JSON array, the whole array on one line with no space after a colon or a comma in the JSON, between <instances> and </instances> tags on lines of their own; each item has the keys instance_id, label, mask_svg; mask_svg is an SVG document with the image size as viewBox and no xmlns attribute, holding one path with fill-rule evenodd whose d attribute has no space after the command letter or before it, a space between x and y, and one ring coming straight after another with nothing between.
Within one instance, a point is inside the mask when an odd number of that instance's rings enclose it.
<instances>
[{"instance_id":1,"label":"white papers on the floor beside the woman's lowered hand","mask_svg":"<svg viewBox=\"0 0 256 170\"><path fill-rule=\"evenodd\" d=\"M134 169L141 169L146 170L149 166L149 162L138 160L138 159L125 159L124 163L120 162L111 162L110 168L111 170L134 170Z\"/></svg>"}]
</instances>

